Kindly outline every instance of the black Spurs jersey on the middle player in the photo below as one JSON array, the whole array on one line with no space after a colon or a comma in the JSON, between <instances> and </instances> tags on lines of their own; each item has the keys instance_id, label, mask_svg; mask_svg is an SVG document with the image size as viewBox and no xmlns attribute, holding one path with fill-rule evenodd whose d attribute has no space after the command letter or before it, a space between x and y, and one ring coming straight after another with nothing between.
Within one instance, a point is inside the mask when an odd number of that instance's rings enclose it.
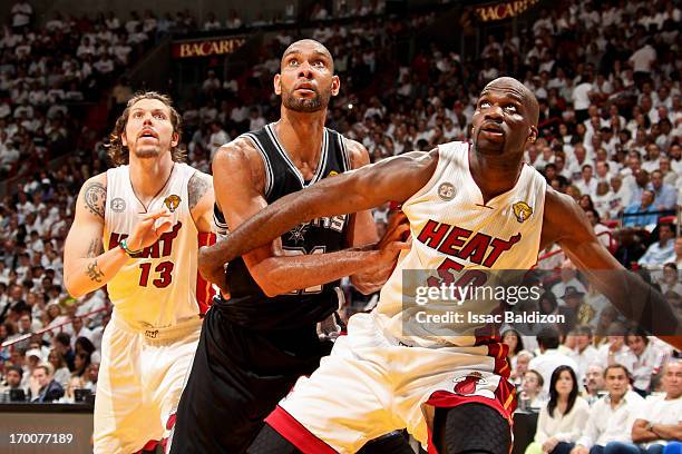
<instances>
[{"instance_id":1,"label":"black Spurs jersey on the middle player","mask_svg":"<svg viewBox=\"0 0 682 454\"><path fill-rule=\"evenodd\" d=\"M251 140L265 166L265 199L272 204L281 197L301 190L316 181L349 170L350 156L345 139L339 132L324 128L320 162L311 180L305 181L280 142L274 124L240 137ZM215 175L214 178L230 178ZM225 218L217 206L214 220L221 234L227 231ZM344 247L349 215L313 219L282 235L282 247L293 254L324 254ZM314 324L339 307L339 282L267 297L251 277L242 258L230 263L226 280L231 299L220 300L215 308L231 320L254 329L289 329Z\"/></svg>"}]
</instances>

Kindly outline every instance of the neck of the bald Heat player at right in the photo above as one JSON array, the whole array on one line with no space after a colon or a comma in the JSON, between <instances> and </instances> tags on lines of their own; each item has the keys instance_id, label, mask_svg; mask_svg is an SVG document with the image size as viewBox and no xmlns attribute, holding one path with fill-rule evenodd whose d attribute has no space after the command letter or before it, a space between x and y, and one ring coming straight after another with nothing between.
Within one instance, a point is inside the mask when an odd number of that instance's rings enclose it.
<instances>
[{"instance_id":1,"label":"neck of the bald Heat player at right","mask_svg":"<svg viewBox=\"0 0 682 454\"><path fill-rule=\"evenodd\" d=\"M480 189L484 204L514 188L520 175L522 166L520 159L512 157L500 159L498 156L487 157L476 152L475 149L469 151L469 171Z\"/></svg>"}]
</instances>

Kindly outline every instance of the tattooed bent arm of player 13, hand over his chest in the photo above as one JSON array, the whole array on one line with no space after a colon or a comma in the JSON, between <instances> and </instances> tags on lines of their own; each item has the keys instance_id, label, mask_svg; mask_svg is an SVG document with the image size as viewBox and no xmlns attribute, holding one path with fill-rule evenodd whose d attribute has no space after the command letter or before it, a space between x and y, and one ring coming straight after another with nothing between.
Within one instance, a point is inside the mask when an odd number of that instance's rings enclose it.
<instances>
[{"instance_id":1,"label":"tattooed bent arm of player 13, hand over his chest","mask_svg":"<svg viewBox=\"0 0 682 454\"><path fill-rule=\"evenodd\" d=\"M106 199L106 174L87 180L78 194L76 217L64 248L64 282L74 297L105 286L129 259L120 247L104 251ZM169 223L156 226L155 223L167 216L165 211L145 216L128 238L129 249L138 250L158 240Z\"/></svg>"}]
</instances>

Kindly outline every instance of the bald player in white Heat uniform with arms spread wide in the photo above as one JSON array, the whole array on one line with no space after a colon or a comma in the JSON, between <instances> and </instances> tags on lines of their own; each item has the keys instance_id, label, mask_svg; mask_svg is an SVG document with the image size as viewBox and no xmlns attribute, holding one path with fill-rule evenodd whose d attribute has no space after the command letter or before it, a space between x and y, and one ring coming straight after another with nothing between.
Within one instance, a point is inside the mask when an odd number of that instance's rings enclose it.
<instances>
[{"instance_id":1,"label":"bald player in white Heat uniform with arms spread wide","mask_svg":"<svg viewBox=\"0 0 682 454\"><path fill-rule=\"evenodd\" d=\"M389 200L402 204L412 234L412 248L399 259L377 308L351 317L348 336L281 401L250 453L351 453L401 426L430 452L509 452L515 399L504 359L508 347L475 329L445 337L408 323L403 295L415 288L403 282L403 270L437 269L444 280L456 280L486 269L527 269L546 244L557 241L625 315L642 315L625 297L641 290L641 280L623 273L615 286L598 282L591 270L624 269L573 199L523 164L537 119L537 100L526 87L496 79L478 100L471 145L445 144L321 181L270 205L221 244L223 257L232 259L301 221ZM649 317L647 327L678 333L664 302L645 303L665 318L656 325Z\"/></svg>"}]
</instances>

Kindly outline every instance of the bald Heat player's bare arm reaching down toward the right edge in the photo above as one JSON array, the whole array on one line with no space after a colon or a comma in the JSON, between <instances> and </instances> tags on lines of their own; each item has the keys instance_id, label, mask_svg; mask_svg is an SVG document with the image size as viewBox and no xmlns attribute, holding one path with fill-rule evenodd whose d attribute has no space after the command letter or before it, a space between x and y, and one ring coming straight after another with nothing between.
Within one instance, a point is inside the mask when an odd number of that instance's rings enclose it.
<instances>
[{"instance_id":1,"label":"bald Heat player's bare arm reaching down toward the right edge","mask_svg":"<svg viewBox=\"0 0 682 454\"><path fill-rule=\"evenodd\" d=\"M558 243L590 283L627 318L652 333L678 334L680 320L662 295L639 276L627 273L608 253L585 213L569 196L548 188L540 248L553 241ZM682 337L666 340L678 348L682 346Z\"/></svg>"}]
</instances>

